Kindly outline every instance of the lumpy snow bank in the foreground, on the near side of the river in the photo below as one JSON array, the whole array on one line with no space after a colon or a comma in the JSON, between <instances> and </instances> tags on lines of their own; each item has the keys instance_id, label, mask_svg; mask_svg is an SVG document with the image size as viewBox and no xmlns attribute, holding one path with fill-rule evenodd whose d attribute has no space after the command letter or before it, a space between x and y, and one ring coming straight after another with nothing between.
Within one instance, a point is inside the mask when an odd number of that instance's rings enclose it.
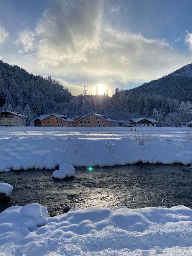
<instances>
[{"instance_id":1,"label":"lumpy snow bank in the foreground, on the near side of the river","mask_svg":"<svg viewBox=\"0 0 192 256\"><path fill-rule=\"evenodd\" d=\"M185 206L73 209L49 217L39 204L0 213L2 255L192 255L192 209Z\"/></svg>"}]
</instances>

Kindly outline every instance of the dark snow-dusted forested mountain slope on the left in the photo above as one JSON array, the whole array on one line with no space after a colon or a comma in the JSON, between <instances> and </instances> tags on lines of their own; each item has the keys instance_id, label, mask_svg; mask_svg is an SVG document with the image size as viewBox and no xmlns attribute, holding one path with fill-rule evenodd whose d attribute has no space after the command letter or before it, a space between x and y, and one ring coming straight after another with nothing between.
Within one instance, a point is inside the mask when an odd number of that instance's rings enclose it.
<instances>
[{"instance_id":1,"label":"dark snow-dusted forested mountain slope on the left","mask_svg":"<svg viewBox=\"0 0 192 256\"><path fill-rule=\"evenodd\" d=\"M0 110L14 110L34 118L63 110L71 99L68 89L51 76L29 74L0 61Z\"/></svg>"}]
</instances>

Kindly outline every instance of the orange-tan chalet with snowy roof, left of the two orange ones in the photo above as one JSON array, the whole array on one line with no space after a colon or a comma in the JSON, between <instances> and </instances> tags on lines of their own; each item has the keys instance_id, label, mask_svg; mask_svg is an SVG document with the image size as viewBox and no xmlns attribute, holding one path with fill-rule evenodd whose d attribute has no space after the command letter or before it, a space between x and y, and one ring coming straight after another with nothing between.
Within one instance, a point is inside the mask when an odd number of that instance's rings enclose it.
<instances>
[{"instance_id":1,"label":"orange-tan chalet with snowy roof, left of the two orange ones","mask_svg":"<svg viewBox=\"0 0 192 256\"><path fill-rule=\"evenodd\" d=\"M64 115L51 114L51 115L40 115L33 119L35 126L74 126L74 120Z\"/></svg>"}]
</instances>

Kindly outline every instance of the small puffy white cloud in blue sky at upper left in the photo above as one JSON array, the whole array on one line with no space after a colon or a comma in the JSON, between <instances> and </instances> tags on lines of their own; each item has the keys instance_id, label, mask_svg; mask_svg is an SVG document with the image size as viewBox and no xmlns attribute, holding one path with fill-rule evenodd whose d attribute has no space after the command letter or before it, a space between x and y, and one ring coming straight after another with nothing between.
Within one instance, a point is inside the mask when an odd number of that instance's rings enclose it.
<instances>
[{"instance_id":1,"label":"small puffy white cloud in blue sky at upper left","mask_svg":"<svg viewBox=\"0 0 192 256\"><path fill-rule=\"evenodd\" d=\"M20 32L18 35L18 39L15 41L17 45L21 44L23 50L19 50L19 53L29 52L36 48L36 34L29 29L25 29Z\"/></svg>"}]
</instances>

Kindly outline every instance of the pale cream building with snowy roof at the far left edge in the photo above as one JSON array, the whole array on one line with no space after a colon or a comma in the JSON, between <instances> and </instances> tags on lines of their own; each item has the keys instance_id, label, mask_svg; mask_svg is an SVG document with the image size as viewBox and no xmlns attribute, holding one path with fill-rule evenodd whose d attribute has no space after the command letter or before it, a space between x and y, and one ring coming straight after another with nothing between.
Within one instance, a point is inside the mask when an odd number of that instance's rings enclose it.
<instances>
[{"instance_id":1,"label":"pale cream building with snowy roof at the far left edge","mask_svg":"<svg viewBox=\"0 0 192 256\"><path fill-rule=\"evenodd\" d=\"M26 126L27 116L4 110L0 112L0 126Z\"/></svg>"}]
</instances>

